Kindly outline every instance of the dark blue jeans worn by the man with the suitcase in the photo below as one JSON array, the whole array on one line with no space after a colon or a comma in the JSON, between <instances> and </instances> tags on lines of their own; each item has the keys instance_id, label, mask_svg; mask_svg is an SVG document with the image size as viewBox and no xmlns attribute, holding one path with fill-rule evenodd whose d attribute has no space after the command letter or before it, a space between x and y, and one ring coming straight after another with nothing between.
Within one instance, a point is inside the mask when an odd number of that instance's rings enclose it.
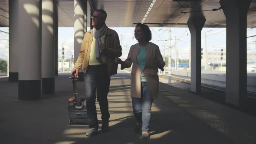
<instances>
[{"instance_id":1,"label":"dark blue jeans worn by the man with the suitcase","mask_svg":"<svg viewBox=\"0 0 256 144\"><path fill-rule=\"evenodd\" d=\"M97 101L100 106L102 121L108 122L110 117L108 112L108 92L110 76L108 76L106 65L89 65L84 74L85 79L85 99L89 128L98 129L98 118L96 110L96 89Z\"/></svg>"}]
</instances>

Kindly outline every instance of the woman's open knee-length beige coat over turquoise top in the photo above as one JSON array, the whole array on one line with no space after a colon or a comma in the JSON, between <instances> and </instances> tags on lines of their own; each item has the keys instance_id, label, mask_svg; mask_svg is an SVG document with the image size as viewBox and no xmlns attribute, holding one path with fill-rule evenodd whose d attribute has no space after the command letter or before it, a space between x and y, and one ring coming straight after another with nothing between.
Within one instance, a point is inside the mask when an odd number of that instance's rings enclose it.
<instances>
[{"instance_id":1,"label":"woman's open knee-length beige coat over turquoise top","mask_svg":"<svg viewBox=\"0 0 256 144\"><path fill-rule=\"evenodd\" d=\"M127 59L121 65L121 69L131 69L131 97L141 98L141 68L138 65L136 57L138 56L140 49L135 44L131 46ZM155 60L159 59L160 65L156 65ZM159 93L159 78L158 68L164 68L165 62L159 50L159 47L151 43L146 49L146 62L144 67L144 74L148 83L148 91L151 98L158 98Z\"/></svg>"}]
</instances>

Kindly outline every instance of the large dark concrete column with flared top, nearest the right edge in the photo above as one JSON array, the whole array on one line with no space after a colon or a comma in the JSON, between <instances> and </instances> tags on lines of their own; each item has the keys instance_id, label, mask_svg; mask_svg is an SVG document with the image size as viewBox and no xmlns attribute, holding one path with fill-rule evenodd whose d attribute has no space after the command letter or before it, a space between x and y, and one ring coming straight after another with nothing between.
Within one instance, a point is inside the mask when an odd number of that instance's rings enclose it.
<instances>
[{"instance_id":1,"label":"large dark concrete column with flared top, nearest the right edge","mask_svg":"<svg viewBox=\"0 0 256 144\"><path fill-rule=\"evenodd\" d=\"M246 33L251 0L220 0L226 16L226 103L244 107L247 94Z\"/></svg>"}]
</instances>

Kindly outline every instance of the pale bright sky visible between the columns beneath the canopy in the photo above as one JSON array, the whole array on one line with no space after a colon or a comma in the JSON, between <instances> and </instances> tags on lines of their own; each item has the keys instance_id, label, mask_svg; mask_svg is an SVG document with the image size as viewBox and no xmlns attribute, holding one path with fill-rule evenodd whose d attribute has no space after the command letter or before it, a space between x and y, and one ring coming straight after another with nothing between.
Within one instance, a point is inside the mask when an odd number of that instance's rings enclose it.
<instances>
[{"instance_id":1,"label":"pale bright sky visible between the columns beneath the canopy","mask_svg":"<svg viewBox=\"0 0 256 144\"><path fill-rule=\"evenodd\" d=\"M129 49L132 45L138 43L134 38L134 27L125 28L111 28L114 29L119 36L120 44L122 46L121 59L125 59L128 55ZM167 56L170 49L170 28L152 27L152 43L159 46L161 54ZM0 27L1 31L9 32L8 27ZM89 28L88 28L89 30ZM7 60L8 55L8 39L7 33L0 32L0 59ZM207 39L205 39L205 34ZM256 29L247 29L247 36L256 35ZM171 28L171 56L175 58L175 37L179 59L189 59L190 49L190 32L188 28ZM121 39L122 38L122 39ZM226 48L226 28L203 28L201 32L202 48L205 48L205 41L207 51L214 51L217 49ZM247 52L256 52L256 37L247 38ZM59 27L59 56L62 51L62 46L65 48L65 58L70 58L74 55L74 29L72 27ZM164 51L165 49L165 51Z\"/></svg>"}]
</instances>

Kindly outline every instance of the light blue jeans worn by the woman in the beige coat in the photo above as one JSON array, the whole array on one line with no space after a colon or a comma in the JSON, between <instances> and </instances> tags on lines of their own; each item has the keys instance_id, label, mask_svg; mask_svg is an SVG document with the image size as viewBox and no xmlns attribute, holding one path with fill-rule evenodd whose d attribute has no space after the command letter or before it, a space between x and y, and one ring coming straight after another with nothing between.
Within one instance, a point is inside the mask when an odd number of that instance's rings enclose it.
<instances>
[{"instance_id":1,"label":"light blue jeans worn by the woman in the beige coat","mask_svg":"<svg viewBox=\"0 0 256 144\"><path fill-rule=\"evenodd\" d=\"M153 98L149 96L147 82L141 82L141 98L131 98L131 101L136 121L142 123L142 131L148 131Z\"/></svg>"}]
</instances>

